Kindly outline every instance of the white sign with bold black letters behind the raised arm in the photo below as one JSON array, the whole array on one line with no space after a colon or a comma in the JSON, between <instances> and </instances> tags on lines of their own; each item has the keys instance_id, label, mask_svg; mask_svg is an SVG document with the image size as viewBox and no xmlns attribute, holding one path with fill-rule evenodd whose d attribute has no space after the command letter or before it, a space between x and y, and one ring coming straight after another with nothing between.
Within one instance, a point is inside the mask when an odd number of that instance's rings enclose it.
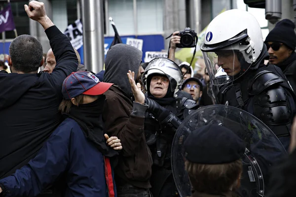
<instances>
[{"instance_id":1,"label":"white sign with bold black letters behind the raised arm","mask_svg":"<svg viewBox=\"0 0 296 197\"><path fill-rule=\"evenodd\" d=\"M67 27L65 34L75 49L79 49L83 45L82 23L79 19Z\"/></svg>"}]
</instances>

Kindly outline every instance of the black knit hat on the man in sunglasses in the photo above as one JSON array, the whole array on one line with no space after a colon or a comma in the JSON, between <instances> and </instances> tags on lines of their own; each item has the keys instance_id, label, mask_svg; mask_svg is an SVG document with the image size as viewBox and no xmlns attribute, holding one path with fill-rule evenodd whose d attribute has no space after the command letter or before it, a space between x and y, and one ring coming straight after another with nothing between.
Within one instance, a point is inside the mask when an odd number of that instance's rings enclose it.
<instances>
[{"instance_id":1,"label":"black knit hat on the man in sunglasses","mask_svg":"<svg viewBox=\"0 0 296 197\"><path fill-rule=\"evenodd\" d=\"M287 47L295 50L296 48L296 33L294 31L295 24L289 19L279 21L273 30L271 30L266 39L266 42L281 42ZM268 50L268 49L267 49Z\"/></svg>"}]
</instances>

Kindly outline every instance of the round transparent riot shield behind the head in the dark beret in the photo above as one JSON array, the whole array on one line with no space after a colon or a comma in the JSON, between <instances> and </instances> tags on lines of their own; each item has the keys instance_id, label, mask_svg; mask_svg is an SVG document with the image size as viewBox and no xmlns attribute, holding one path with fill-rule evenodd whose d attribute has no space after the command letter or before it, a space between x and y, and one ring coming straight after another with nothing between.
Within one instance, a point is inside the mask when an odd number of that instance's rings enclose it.
<instances>
[{"instance_id":1,"label":"round transparent riot shield behind the head in the dark beret","mask_svg":"<svg viewBox=\"0 0 296 197\"><path fill-rule=\"evenodd\" d=\"M197 109L185 118L176 131L172 144L172 170L181 197L191 194L191 185L185 171L183 144L196 128L222 125L245 141L241 186L237 193L241 197L263 197L268 182L268 170L282 158L286 151L275 134L250 113L227 105L209 105Z\"/></svg>"}]
</instances>

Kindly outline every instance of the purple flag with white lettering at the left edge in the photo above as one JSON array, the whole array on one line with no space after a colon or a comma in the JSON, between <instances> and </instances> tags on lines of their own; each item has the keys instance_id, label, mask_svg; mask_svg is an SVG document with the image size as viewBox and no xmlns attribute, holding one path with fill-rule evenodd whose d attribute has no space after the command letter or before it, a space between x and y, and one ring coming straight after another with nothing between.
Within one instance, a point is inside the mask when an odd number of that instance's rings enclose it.
<instances>
[{"instance_id":1,"label":"purple flag with white lettering at the left edge","mask_svg":"<svg viewBox=\"0 0 296 197\"><path fill-rule=\"evenodd\" d=\"M0 33L15 29L10 3L0 11Z\"/></svg>"}]
</instances>

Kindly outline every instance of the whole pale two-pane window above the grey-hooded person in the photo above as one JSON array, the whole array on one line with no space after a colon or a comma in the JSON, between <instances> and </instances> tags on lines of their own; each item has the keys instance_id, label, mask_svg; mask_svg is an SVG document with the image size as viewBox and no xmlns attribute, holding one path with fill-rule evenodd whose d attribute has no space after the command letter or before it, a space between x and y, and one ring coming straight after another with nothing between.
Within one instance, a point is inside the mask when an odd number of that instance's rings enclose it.
<instances>
[{"instance_id":1,"label":"whole pale two-pane window above the grey-hooded person","mask_svg":"<svg viewBox=\"0 0 296 197\"><path fill-rule=\"evenodd\" d=\"M108 0L107 4L108 35L114 35L109 17L113 18L119 35L163 32L163 0Z\"/></svg>"}]
</instances>

